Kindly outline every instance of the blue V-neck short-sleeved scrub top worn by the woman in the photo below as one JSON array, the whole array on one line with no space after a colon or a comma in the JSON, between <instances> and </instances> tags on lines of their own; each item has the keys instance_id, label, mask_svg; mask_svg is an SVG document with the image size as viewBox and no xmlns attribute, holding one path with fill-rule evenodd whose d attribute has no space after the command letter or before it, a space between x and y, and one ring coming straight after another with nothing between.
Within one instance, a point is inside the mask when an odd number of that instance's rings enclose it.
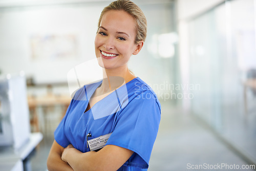
<instances>
[{"instance_id":1,"label":"blue V-neck short-sleeved scrub top worn by the woman","mask_svg":"<svg viewBox=\"0 0 256 171\"><path fill-rule=\"evenodd\" d=\"M87 134L97 138L112 133L106 145L130 149L134 154L118 170L147 170L161 117L154 91L139 77L127 82L86 111L89 100L102 81L79 89L54 132L62 147L72 144L86 153Z\"/></svg>"}]
</instances>

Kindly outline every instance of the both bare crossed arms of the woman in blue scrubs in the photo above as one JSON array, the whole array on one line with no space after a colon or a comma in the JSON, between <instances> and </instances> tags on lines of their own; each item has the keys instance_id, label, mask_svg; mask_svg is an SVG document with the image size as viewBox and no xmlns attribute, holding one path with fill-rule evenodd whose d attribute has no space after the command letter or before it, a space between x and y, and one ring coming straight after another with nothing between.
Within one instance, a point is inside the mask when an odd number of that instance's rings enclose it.
<instances>
[{"instance_id":1,"label":"both bare crossed arms of the woman in blue scrubs","mask_svg":"<svg viewBox=\"0 0 256 171\"><path fill-rule=\"evenodd\" d=\"M47 160L48 170L117 170L134 152L116 145L106 145L98 152L82 153L71 144L66 148L55 140Z\"/></svg>"}]
</instances>

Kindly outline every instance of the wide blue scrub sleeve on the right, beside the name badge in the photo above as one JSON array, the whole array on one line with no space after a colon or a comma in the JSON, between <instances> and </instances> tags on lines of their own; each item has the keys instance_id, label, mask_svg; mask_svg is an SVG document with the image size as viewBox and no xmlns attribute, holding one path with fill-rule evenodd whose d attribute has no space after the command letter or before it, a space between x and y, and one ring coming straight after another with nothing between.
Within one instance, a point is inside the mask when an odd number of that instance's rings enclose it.
<instances>
[{"instance_id":1,"label":"wide blue scrub sleeve on the right, beside the name badge","mask_svg":"<svg viewBox=\"0 0 256 171\"><path fill-rule=\"evenodd\" d=\"M161 118L160 103L150 90L129 97L114 123L114 130L106 145L117 145L135 152L126 166L147 168L157 137Z\"/></svg>"}]
</instances>

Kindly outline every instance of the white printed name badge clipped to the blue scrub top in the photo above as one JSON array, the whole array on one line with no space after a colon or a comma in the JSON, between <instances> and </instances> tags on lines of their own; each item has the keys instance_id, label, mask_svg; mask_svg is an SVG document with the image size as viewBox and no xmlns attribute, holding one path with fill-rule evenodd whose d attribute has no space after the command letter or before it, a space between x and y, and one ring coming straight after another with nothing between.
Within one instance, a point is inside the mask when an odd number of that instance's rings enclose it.
<instances>
[{"instance_id":1,"label":"white printed name badge clipped to the blue scrub top","mask_svg":"<svg viewBox=\"0 0 256 171\"><path fill-rule=\"evenodd\" d=\"M88 140L88 144L91 151L98 151L99 149L103 148L106 144L106 141L110 138L110 135L112 133L99 136L98 138L94 138L91 140Z\"/></svg>"}]
</instances>

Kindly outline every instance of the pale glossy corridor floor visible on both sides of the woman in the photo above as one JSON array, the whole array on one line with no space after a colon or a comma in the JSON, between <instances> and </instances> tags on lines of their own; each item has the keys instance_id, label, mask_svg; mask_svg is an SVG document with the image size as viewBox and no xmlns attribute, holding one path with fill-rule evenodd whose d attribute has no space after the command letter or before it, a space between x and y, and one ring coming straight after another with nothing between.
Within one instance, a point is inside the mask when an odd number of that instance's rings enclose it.
<instances>
[{"instance_id":1,"label":"pale glossy corridor floor visible on both sides of the woman","mask_svg":"<svg viewBox=\"0 0 256 171\"><path fill-rule=\"evenodd\" d=\"M238 170L233 166L247 164L181 108L168 102L162 102L161 105L161 123L149 171ZM31 170L47 170L46 160L52 142L53 130L50 130L31 157ZM204 168L196 169L199 165Z\"/></svg>"}]
</instances>

